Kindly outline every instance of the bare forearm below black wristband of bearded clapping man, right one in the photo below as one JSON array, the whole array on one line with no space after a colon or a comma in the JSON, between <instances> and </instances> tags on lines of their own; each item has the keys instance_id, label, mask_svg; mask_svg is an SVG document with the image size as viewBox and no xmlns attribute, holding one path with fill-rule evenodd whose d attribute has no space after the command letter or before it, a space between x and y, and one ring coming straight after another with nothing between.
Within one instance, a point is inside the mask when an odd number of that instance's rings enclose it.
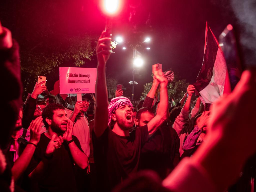
<instances>
[{"instance_id":1,"label":"bare forearm below black wristband of bearded clapping man, right one","mask_svg":"<svg viewBox=\"0 0 256 192\"><path fill-rule=\"evenodd\" d=\"M74 162L82 169L88 166L88 157L84 154L74 142L68 144Z\"/></svg>"}]
</instances>

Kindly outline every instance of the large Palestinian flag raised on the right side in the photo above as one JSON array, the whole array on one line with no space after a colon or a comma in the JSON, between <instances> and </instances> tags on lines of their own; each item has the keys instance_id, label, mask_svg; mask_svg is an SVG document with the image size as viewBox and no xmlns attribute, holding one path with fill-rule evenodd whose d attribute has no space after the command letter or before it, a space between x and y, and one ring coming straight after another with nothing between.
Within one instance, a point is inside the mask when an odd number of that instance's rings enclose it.
<instances>
[{"instance_id":1,"label":"large Palestinian flag raised on the right side","mask_svg":"<svg viewBox=\"0 0 256 192\"><path fill-rule=\"evenodd\" d=\"M194 86L196 95L203 104L213 103L224 91L227 75L227 65L219 42L212 33L208 22L205 29L204 60Z\"/></svg>"}]
</instances>

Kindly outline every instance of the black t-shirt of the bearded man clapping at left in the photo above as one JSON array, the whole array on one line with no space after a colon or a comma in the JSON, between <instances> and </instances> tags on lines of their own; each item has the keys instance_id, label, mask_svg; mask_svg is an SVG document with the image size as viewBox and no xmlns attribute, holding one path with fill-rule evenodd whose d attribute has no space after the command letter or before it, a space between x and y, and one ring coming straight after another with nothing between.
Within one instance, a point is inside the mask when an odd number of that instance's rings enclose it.
<instances>
[{"instance_id":1,"label":"black t-shirt of the bearded man clapping at left","mask_svg":"<svg viewBox=\"0 0 256 192\"><path fill-rule=\"evenodd\" d=\"M74 135L72 138L77 147L83 151L78 138ZM46 159L44 152L49 142L50 139L42 133L34 156L30 161L28 172L32 172L40 161L44 161L46 163L45 170L38 180L41 191L77 191L74 161L68 143L64 141L61 147L55 150L53 156Z\"/></svg>"}]
</instances>

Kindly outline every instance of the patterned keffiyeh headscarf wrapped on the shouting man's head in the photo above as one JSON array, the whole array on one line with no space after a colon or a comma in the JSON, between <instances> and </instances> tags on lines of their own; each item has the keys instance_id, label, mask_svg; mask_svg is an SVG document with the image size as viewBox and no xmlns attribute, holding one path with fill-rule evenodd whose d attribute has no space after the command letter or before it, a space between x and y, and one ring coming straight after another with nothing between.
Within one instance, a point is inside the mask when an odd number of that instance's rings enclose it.
<instances>
[{"instance_id":1,"label":"patterned keffiyeh headscarf wrapped on the shouting man's head","mask_svg":"<svg viewBox=\"0 0 256 192\"><path fill-rule=\"evenodd\" d=\"M111 122L111 115L115 112L116 109L118 109L122 105L129 105L133 108L133 105L127 97L115 97L111 99L108 109L109 109L109 122L108 125L110 126Z\"/></svg>"}]
</instances>

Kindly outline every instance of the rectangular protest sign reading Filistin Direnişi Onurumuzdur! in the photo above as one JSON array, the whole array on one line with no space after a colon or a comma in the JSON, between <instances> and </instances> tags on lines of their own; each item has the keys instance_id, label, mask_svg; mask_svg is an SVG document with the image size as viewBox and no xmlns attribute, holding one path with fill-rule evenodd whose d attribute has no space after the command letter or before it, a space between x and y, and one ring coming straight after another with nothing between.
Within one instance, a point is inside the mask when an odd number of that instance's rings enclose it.
<instances>
[{"instance_id":1,"label":"rectangular protest sign reading Filistin Direni\u015fi Onurumuzdur!","mask_svg":"<svg viewBox=\"0 0 256 192\"><path fill-rule=\"evenodd\" d=\"M96 68L60 67L60 93L95 93Z\"/></svg>"}]
</instances>

